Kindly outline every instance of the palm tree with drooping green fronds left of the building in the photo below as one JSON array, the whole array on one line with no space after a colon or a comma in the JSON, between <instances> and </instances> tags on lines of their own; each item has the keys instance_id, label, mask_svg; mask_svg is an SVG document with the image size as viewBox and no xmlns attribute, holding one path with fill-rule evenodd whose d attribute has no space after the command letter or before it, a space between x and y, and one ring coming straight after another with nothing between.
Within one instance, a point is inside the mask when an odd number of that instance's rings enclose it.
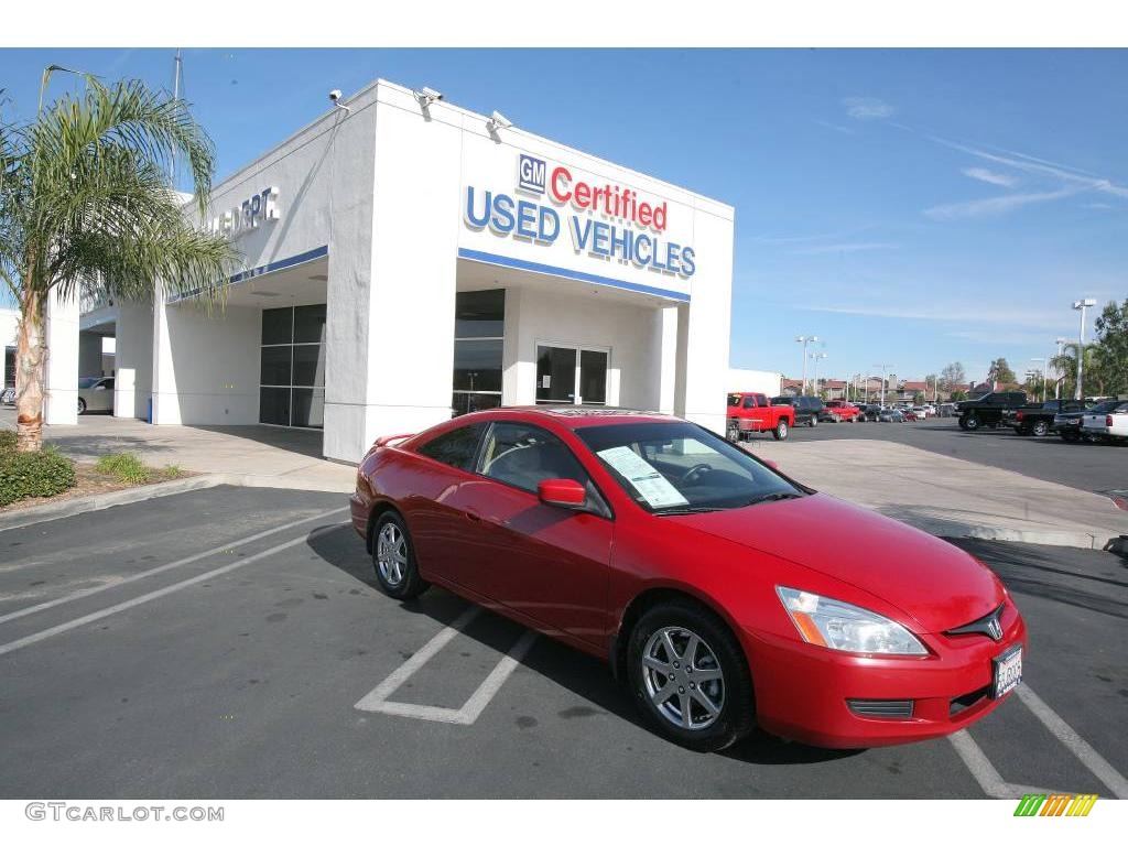
<instances>
[{"instance_id":1,"label":"palm tree with drooping green fronds left of the building","mask_svg":"<svg viewBox=\"0 0 1128 846\"><path fill-rule=\"evenodd\" d=\"M43 86L50 79L49 68ZM236 254L193 224L211 192L214 147L187 105L139 80L86 77L34 122L0 126L0 279L19 303L18 449L42 448L47 298L80 285L143 299L164 285L222 299ZM41 89L42 104L42 89ZM185 208L169 177L183 157L194 197Z\"/></svg>"}]
</instances>

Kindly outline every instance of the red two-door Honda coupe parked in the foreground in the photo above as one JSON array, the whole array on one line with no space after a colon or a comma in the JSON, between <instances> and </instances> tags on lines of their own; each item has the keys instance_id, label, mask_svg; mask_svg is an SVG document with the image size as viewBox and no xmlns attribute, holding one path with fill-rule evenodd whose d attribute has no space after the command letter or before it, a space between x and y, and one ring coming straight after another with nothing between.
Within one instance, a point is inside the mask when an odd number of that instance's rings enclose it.
<instances>
[{"instance_id":1,"label":"red two-door Honda coupe parked in the foreground","mask_svg":"<svg viewBox=\"0 0 1128 846\"><path fill-rule=\"evenodd\" d=\"M1025 626L967 553L677 417L477 412L377 441L353 526L380 587L439 584L607 660L698 750L934 738L1022 679Z\"/></svg>"}]
</instances>

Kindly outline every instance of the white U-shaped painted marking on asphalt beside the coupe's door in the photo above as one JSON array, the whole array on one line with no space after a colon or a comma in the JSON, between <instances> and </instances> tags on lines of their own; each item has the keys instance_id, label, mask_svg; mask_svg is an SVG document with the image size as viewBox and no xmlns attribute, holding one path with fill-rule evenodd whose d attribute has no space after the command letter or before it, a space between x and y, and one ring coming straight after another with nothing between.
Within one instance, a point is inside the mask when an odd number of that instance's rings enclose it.
<instances>
[{"instance_id":1,"label":"white U-shaped painted marking on asphalt beside the coupe's door","mask_svg":"<svg viewBox=\"0 0 1128 846\"><path fill-rule=\"evenodd\" d=\"M435 705L391 702L388 697L398 690L423 664L434 658L443 646L455 640L456 635L466 628L481 611L482 608L479 606L472 606L462 611L458 619L428 641L422 649L396 668L388 678L365 694L353 707L358 711L407 716L414 720L429 720L435 723L472 725L482 715L482 712L486 710L486 706L494 696L497 695L497 691L501 690L502 685L505 684L505 680L517 669L521 659L529 652L532 642L537 638L536 632L527 631L518 638L517 643L513 644L508 653L502 655L497 666L490 671L490 675L470 694L470 698L460 708L443 708Z\"/></svg>"}]
</instances>

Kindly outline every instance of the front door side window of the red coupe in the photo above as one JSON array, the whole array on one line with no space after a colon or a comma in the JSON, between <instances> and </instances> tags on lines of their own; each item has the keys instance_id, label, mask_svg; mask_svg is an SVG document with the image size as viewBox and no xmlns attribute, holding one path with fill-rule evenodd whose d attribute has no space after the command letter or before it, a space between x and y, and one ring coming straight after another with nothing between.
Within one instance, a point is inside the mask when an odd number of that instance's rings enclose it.
<instances>
[{"instance_id":1,"label":"front door side window of the red coupe","mask_svg":"<svg viewBox=\"0 0 1128 846\"><path fill-rule=\"evenodd\" d=\"M575 479L589 486L588 473L559 438L539 426L495 423L482 450L481 473L530 493L546 478Z\"/></svg>"}]
</instances>

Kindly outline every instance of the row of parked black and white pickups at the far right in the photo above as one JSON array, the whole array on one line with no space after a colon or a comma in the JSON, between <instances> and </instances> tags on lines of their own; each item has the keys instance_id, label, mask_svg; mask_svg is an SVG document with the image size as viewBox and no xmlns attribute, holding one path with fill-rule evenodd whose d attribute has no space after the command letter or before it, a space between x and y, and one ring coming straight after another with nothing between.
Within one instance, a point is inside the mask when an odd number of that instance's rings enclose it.
<instances>
[{"instance_id":1,"label":"row of parked black and white pickups at the far right","mask_svg":"<svg viewBox=\"0 0 1128 846\"><path fill-rule=\"evenodd\" d=\"M960 403L959 414L960 428L967 432L1008 426L1021 435L1057 434L1070 443L1128 439L1128 400L1125 399L1030 403L1021 390L994 391Z\"/></svg>"}]
</instances>

